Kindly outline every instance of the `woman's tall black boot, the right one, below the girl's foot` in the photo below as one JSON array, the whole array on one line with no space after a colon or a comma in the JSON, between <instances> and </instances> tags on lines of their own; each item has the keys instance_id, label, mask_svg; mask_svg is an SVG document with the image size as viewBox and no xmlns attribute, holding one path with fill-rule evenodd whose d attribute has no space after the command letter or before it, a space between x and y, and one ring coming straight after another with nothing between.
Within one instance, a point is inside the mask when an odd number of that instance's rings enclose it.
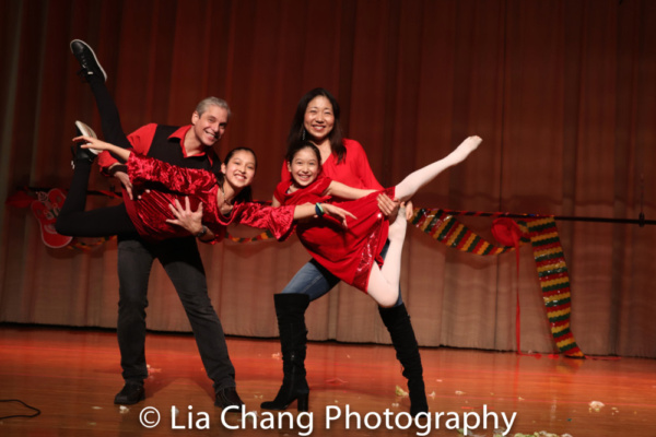
<instances>
[{"instance_id":1,"label":"woman's tall black boot, the right one, below the girl's foot","mask_svg":"<svg viewBox=\"0 0 656 437\"><path fill-rule=\"evenodd\" d=\"M391 336L397 359L403 366L402 375L408 379L410 414L414 416L418 413L427 413L429 403L423 381L421 355L406 305L401 304L393 308L378 307L378 312Z\"/></svg>"}]
</instances>

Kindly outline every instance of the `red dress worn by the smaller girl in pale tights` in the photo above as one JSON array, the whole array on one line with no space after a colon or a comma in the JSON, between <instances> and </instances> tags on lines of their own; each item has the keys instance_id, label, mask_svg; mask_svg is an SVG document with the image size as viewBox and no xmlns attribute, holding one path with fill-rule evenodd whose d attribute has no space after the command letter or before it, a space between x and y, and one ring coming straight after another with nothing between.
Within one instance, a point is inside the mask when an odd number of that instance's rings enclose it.
<instances>
[{"instance_id":1,"label":"red dress worn by the smaller girl in pale tights","mask_svg":"<svg viewBox=\"0 0 656 437\"><path fill-rule=\"evenodd\" d=\"M291 181L278 184L273 196L282 205L330 202L349 211L356 218L347 218L348 228L331 217L312 218L296 224L296 234L313 258L345 283L366 293L374 261L383 264L380 251L387 240L389 222L378 209L377 196L349 201L331 200L324 196L332 180L319 176L309 186L288 193ZM394 198L394 188L384 190Z\"/></svg>"}]
</instances>

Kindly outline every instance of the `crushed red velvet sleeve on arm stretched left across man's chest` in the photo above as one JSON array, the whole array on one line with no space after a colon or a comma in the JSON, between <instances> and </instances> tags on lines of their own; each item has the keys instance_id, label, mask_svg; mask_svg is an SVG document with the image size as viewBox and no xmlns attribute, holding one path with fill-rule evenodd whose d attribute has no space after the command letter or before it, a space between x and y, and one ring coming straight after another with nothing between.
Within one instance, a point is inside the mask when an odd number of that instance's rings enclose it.
<instances>
[{"instance_id":1,"label":"crushed red velvet sleeve on arm stretched left across man's chest","mask_svg":"<svg viewBox=\"0 0 656 437\"><path fill-rule=\"evenodd\" d=\"M184 194L208 191L216 185L216 178L210 172L177 167L137 153L130 154L128 175L133 184L142 181L160 182L169 190Z\"/></svg>"}]
</instances>

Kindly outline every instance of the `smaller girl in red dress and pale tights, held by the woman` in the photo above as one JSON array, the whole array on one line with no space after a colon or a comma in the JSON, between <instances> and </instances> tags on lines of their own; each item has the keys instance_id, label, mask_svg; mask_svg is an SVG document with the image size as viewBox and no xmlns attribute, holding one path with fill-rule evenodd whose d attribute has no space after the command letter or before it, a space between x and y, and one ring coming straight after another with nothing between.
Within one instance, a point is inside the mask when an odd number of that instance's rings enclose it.
<instances>
[{"instance_id":1,"label":"smaller girl in red dress and pale tights, held by the woman","mask_svg":"<svg viewBox=\"0 0 656 437\"><path fill-rule=\"evenodd\" d=\"M409 200L443 170L462 162L481 141L479 137L469 137L448 156L415 170L383 192L402 202ZM296 225L296 234L313 258L330 273L365 292L379 306L394 306L399 293L405 211L390 225L378 209L376 198L380 191L351 188L321 175L319 151L309 141L295 144L286 162L291 180L278 185L272 206L316 203L320 216L325 204L338 204L351 213L345 231L336 221L311 218ZM390 244L383 263L379 253L388 238Z\"/></svg>"}]
</instances>

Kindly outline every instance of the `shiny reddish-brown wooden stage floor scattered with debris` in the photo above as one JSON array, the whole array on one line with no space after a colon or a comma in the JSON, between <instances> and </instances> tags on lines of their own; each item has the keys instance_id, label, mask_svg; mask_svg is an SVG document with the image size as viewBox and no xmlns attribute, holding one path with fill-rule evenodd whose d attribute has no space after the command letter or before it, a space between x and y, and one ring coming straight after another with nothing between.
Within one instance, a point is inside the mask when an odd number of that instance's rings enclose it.
<instances>
[{"instance_id":1,"label":"shiny reddish-brown wooden stage floor scattered with debris","mask_svg":"<svg viewBox=\"0 0 656 437\"><path fill-rule=\"evenodd\" d=\"M229 349L238 392L254 412L245 420L213 406L191 335L149 334L147 399L121 409L113 403L122 387L115 333L0 326L0 399L40 410L33 418L1 420L0 436L457 437L467 426L467 435L492 437L494 420L505 432L504 417L509 422L515 413L508 436L656 436L654 359L422 349L430 423L409 424L408 399L396 394L396 386L406 386L391 346L311 343L311 414L280 416L259 411L281 381L278 341L232 338ZM140 416L155 417L145 408L160 412L157 426L140 423ZM179 411L175 418L172 408ZM0 403L0 416L31 413L16 402Z\"/></svg>"}]
</instances>

